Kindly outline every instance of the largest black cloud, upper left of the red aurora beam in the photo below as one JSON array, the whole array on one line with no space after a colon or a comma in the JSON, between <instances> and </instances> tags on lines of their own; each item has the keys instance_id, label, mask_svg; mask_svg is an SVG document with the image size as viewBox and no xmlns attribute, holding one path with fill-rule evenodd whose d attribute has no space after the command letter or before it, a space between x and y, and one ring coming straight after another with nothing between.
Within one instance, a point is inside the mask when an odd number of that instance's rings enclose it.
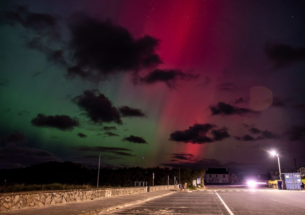
<instances>
[{"instance_id":1,"label":"largest black cloud, upper left of the red aurora beam","mask_svg":"<svg viewBox=\"0 0 305 215\"><path fill-rule=\"evenodd\" d=\"M69 18L72 61L68 76L100 81L117 71L138 71L162 63L155 49L159 40L149 35L133 38L126 28L75 13Z\"/></svg>"}]
</instances>

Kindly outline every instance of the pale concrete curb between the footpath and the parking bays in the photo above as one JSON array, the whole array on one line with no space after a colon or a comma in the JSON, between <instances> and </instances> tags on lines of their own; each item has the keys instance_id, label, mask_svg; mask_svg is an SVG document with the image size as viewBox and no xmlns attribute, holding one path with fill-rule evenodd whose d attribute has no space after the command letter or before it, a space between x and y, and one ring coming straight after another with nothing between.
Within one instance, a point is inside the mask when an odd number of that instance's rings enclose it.
<instances>
[{"instance_id":1,"label":"pale concrete curb between the footpath and the parking bays","mask_svg":"<svg viewBox=\"0 0 305 215\"><path fill-rule=\"evenodd\" d=\"M136 200L136 201L127 202L127 203L124 203L124 204L115 205L115 206L111 206L111 207L107 207L107 208L95 209L95 210L91 210L91 211L87 211L87 212L82 212L82 213L78 213L76 215L96 215L96 214L100 214L100 213L105 213L105 212L112 211L112 210L115 210L115 209L120 209L120 208L124 208L124 207L127 207L127 206L135 205L135 204L140 203L140 202L145 202L145 201L150 200L150 199L170 195L170 194L173 194L175 192L177 192L177 191L172 191L172 192L166 193L166 194L160 194L160 195L156 195L156 196L152 196L152 197L148 197L148 198L144 198L144 199L139 199L139 200Z\"/></svg>"}]
</instances>

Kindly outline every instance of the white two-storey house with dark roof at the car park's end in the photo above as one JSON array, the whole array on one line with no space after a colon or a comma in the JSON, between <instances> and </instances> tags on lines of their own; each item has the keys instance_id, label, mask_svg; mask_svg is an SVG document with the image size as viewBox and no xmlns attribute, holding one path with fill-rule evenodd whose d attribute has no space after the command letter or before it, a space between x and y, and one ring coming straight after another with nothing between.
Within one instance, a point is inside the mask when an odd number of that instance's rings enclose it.
<instances>
[{"instance_id":1,"label":"white two-storey house with dark roof at the car park's end","mask_svg":"<svg viewBox=\"0 0 305 215\"><path fill-rule=\"evenodd\" d=\"M206 183L229 183L228 168L206 168Z\"/></svg>"}]
</instances>

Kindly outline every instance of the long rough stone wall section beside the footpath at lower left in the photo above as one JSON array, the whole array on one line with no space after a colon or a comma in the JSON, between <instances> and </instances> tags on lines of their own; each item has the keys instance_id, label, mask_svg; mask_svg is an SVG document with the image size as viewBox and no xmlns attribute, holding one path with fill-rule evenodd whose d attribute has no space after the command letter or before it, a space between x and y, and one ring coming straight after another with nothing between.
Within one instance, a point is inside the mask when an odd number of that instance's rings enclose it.
<instances>
[{"instance_id":1,"label":"long rough stone wall section beside the footpath at lower left","mask_svg":"<svg viewBox=\"0 0 305 215\"><path fill-rule=\"evenodd\" d=\"M145 188L146 187L120 187L66 191L61 190L0 193L0 212L21 208L63 204L67 202L88 201L117 195L144 193Z\"/></svg>"}]
</instances>

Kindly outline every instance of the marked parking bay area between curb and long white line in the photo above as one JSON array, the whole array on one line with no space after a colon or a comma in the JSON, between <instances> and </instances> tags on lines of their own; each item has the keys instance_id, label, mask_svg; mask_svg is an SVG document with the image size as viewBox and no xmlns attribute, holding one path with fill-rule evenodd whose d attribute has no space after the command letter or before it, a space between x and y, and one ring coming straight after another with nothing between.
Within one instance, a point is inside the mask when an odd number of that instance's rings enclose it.
<instances>
[{"instance_id":1,"label":"marked parking bay area between curb and long white line","mask_svg":"<svg viewBox=\"0 0 305 215\"><path fill-rule=\"evenodd\" d=\"M176 192L137 204L135 206L118 209L103 214L190 214L190 215L221 215L230 214L219 195L215 192L193 191Z\"/></svg>"}]
</instances>

